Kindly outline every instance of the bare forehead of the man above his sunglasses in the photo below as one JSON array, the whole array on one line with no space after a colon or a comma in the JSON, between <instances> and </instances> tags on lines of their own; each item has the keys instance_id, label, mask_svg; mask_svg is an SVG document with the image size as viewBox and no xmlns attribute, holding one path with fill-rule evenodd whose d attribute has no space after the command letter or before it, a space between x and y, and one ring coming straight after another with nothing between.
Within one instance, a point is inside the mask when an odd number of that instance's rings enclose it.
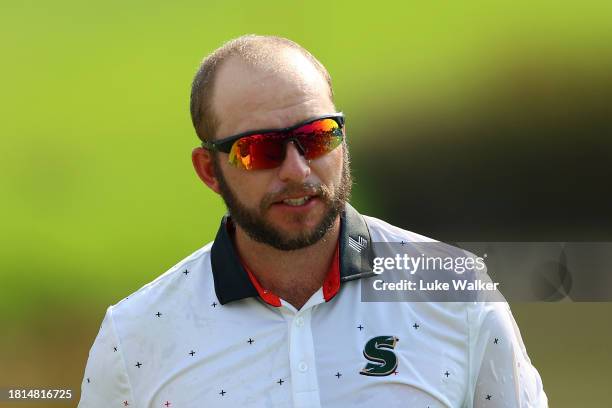
<instances>
[{"instance_id":1,"label":"bare forehead of the man above his sunglasses","mask_svg":"<svg viewBox=\"0 0 612 408\"><path fill-rule=\"evenodd\" d=\"M219 69L212 101L218 138L287 127L335 111L323 75L293 50L260 64L231 57Z\"/></svg>"}]
</instances>

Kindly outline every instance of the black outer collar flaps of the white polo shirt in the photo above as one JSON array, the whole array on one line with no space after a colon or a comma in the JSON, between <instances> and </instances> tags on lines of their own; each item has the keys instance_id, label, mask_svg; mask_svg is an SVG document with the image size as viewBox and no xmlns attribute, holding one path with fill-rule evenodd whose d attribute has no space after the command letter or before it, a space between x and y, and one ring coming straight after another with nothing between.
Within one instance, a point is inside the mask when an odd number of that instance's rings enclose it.
<instances>
[{"instance_id":1,"label":"black outer collar flaps of the white polo shirt","mask_svg":"<svg viewBox=\"0 0 612 408\"><path fill-rule=\"evenodd\" d=\"M211 248L211 266L215 282L215 293L224 305L234 300L258 296L249 275L240 263L240 258L227 231L229 215L221 220ZM350 204L346 203L340 214L340 282L373 275L371 271L372 239L363 219Z\"/></svg>"}]
</instances>

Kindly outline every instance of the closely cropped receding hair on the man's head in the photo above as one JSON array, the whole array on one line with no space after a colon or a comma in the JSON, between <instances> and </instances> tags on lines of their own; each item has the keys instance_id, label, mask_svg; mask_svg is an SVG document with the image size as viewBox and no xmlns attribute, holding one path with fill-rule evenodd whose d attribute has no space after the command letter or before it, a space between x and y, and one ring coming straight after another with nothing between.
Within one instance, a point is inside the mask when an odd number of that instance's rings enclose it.
<instances>
[{"instance_id":1,"label":"closely cropped receding hair on the man's head","mask_svg":"<svg viewBox=\"0 0 612 408\"><path fill-rule=\"evenodd\" d=\"M331 77L327 69L301 45L283 37L272 35L247 34L235 38L208 55L193 78L191 84L191 121L200 140L215 138L219 120L212 109L212 93L219 67L228 58L237 56L252 64L267 64L281 49L294 49L305 56L321 73L329 86L329 96L333 100Z\"/></svg>"}]
</instances>

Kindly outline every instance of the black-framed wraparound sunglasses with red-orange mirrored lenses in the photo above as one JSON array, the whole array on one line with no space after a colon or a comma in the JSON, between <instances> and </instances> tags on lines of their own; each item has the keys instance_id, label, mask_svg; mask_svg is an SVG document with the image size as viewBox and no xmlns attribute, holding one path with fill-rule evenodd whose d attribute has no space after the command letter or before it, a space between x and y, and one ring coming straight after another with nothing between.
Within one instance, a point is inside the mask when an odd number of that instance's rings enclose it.
<instances>
[{"instance_id":1,"label":"black-framed wraparound sunglasses with red-orange mirrored lenses","mask_svg":"<svg viewBox=\"0 0 612 408\"><path fill-rule=\"evenodd\" d=\"M221 140L205 141L202 147L229 154L229 163L245 170L272 169L281 165L293 142L307 160L321 157L342 143L344 115L334 113L309 119L283 129L251 130Z\"/></svg>"}]
</instances>

